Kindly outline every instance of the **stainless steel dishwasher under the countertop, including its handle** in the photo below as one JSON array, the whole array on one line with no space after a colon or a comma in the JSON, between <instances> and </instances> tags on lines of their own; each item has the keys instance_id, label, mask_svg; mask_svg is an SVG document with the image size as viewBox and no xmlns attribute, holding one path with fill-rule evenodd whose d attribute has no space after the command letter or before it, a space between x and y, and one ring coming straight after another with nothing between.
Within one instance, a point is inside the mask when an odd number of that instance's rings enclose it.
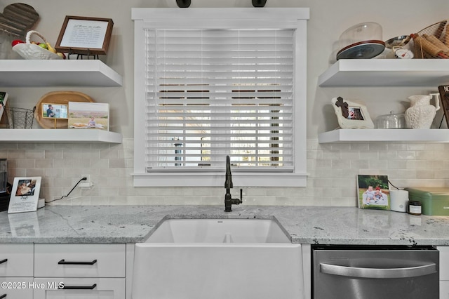
<instances>
[{"instance_id":1,"label":"stainless steel dishwasher under the countertop, including its handle","mask_svg":"<svg viewBox=\"0 0 449 299\"><path fill-rule=\"evenodd\" d=\"M438 299L433 246L312 246L313 299Z\"/></svg>"}]
</instances>

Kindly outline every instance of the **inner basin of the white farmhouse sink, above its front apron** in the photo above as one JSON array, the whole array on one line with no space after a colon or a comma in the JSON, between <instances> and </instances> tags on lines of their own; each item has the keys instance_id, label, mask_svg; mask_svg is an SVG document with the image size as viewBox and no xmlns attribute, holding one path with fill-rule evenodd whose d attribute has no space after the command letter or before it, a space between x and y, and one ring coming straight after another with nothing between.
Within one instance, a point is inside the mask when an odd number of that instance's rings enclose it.
<instances>
[{"instance_id":1,"label":"inner basin of the white farmhouse sink, above its front apron","mask_svg":"<svg viewBox=\"0 0 449 299\"><path fill-rule=\"evenodd\" d=\"M146 243L290 243L275 220L169 219Z\"/></svg>"}]
</instances>

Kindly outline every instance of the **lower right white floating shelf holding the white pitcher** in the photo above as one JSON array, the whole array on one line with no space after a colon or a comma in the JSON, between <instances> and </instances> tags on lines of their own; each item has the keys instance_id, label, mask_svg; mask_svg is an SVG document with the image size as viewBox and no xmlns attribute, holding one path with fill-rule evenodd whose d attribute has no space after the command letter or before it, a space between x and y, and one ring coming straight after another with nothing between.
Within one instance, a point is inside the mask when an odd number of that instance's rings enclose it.
<instances>
[{"instance_id":1,"label":"lower right white floating shelf holding the white pitcher","mask_svg":"<svg viewBox=\"0 0 449 299\"><path fill-rule=\"evenodd\" d=\"M320 133L319 143L328 142L449 142L449 129L338 129Z\"/></svg>"}]
</instances>

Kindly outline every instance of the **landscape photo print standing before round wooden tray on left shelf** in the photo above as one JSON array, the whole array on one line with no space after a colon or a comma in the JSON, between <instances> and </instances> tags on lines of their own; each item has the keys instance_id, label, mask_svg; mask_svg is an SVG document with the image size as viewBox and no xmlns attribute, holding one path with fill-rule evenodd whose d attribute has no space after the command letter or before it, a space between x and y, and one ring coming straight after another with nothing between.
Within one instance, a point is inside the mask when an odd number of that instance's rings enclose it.
<instances>
[{"instance_id":1,"label":"landscape photo print standing before round wooden tray on left shelf","mask_svg":"<svg viewBox=\"0 0 449 299\"><path fill-rule=\"evenodd\" d=\"M109 104L69 102L69 128L96 128L109 131Z\"/></svg>"}]
</instances>

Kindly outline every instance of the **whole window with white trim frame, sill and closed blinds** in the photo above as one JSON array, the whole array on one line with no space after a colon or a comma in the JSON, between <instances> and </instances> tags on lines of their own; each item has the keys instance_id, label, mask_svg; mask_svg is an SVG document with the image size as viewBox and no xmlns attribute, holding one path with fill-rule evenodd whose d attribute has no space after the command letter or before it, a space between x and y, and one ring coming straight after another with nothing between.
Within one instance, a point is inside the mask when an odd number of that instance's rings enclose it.
<instances>
[{"instance_id":1,"label":"whole window with white trim frame, sill and closed blinds","mask_svg":"<svg viewBox=\"0 0 449 299\"><path fill-rule=\"evenodd\" d=\"M308 8L133 8L135 186L304 186Z\"/></svg>"}]
</instances>

